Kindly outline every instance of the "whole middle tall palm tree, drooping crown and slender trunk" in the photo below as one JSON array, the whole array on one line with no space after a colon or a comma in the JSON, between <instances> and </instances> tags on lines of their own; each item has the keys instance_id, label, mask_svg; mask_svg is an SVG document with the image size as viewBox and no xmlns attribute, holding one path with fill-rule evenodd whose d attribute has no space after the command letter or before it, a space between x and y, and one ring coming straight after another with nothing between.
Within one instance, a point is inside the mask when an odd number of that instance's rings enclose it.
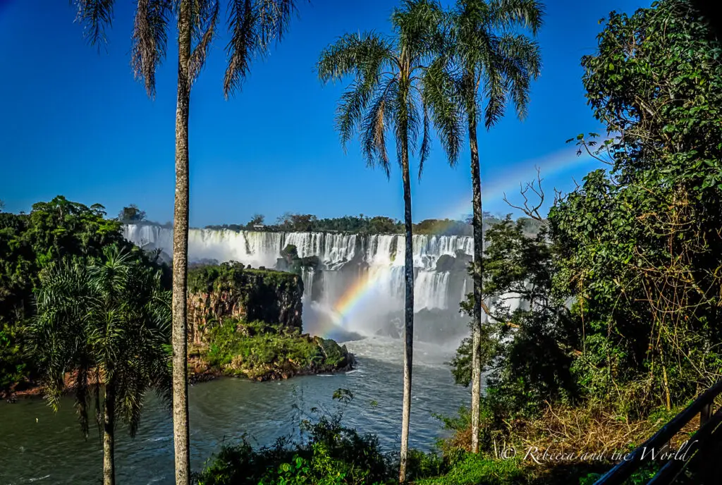
<instances>
[{"instance_id":1,"label":"whole middle tall palm tree, drooping crown and slender trunk","mask_svg":"<svg viewBox=\"0 0 722 485\"><path fill-rule=\"evenodd\" d=\"M435 121L442 142L458 131L456 110L448 93L453 79L435 63L443 45L443 12L435 1L404 0L391 15L393 35L378 32L346 34L329 45L316 66L321 82L352 77L342 95L336 129L344 149L357 132L370 167L390 176L387 132L396 142L396 159L404 186L404 399L399 481L406 479L414 342L414 261L409 154L419 157L419 176L430 153L430 126ZM443 95L446 93L446 96ZM419 135L421 143L419 141ZM458 133L454 136L458 136ZM454 146L448 147L453 153Z\"/></svg>"}]
</instances>

